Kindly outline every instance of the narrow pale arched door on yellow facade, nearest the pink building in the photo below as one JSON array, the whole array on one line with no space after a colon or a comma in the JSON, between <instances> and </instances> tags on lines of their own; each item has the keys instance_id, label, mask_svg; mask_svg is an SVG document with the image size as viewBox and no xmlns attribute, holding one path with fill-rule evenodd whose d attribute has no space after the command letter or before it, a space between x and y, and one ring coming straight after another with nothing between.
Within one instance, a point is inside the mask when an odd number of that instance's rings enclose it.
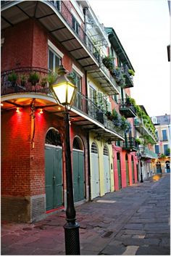
<instances>
[{"instance_id":1,"label":"narrow pale arched door on yellow facade, nearest the pink building","mask_svg":"<svg viewBox=\"0 0 171 256\"><path fill-rule=\"evenodd\" d=\"M104 193L110 192L110 165L109 165L109 149L104 146Z\"/></svg>"}]
</instances>

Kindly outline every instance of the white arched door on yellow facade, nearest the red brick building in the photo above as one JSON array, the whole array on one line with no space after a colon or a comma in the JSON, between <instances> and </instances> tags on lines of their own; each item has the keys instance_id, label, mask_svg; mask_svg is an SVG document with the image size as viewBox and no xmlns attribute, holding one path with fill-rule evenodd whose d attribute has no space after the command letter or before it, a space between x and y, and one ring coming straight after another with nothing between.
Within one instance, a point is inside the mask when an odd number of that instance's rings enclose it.
<instances>
[{"instance_id":1,"label":"white arched door on yellow facade, nearest the red brick building","mask_svg":"<svg viewBox=\"0 0 171 256\"><path fill-rule=\"evenodd\" d=\"M91 144L91 199L99 197L99 154L95 142Z\"/></svg>"}]
</instances>

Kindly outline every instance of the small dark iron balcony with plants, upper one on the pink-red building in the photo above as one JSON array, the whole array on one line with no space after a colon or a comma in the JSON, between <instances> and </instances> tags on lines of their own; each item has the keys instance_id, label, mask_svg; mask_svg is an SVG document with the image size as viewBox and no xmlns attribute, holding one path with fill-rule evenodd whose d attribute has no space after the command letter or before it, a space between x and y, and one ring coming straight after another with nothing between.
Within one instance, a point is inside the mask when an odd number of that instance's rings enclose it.
<instances>
[{"instance_id":1,"label":"small dark iron balcony with plants, upper one on the pink-red building","mask_svg":"<svg viewBox=\"0 0 171 256\"><path fill-rule=\"evenodd\" d=\"M135 107L133 106L133 104L130 103L129 98L120 99L119 108L120 108L120 113L127 118L136 116Z\"/></svg>"}]
</instances>

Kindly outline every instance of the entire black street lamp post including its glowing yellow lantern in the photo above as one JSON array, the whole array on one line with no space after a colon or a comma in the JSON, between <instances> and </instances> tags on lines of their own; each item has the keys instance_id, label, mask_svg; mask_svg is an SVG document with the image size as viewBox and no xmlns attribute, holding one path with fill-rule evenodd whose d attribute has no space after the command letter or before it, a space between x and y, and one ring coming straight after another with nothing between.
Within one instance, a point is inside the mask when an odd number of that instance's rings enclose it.
<instances>
[{"instance_id":1,"label":"entire black street lamp post including its glowing yellow lantern","mask_svg":"<svg viewBox=\"0 0 171 256\"><path fill-rule=\"evenodd\" d=\"M72 186L72 165L70 152L70 113L68 106L71 106L75 93L76 86L74 86L67 78L66 70L60 67L58 70L59 77L50 86L51 93L59 104L64 106L64 149L65 149L65 168L67 181L67 209L66 220L64 225L64 239L65 239L65 253L66 255L80 255L80 238L79 238L79 224L76 223L76 212L74 207L73 186Z\"/></svg>"}]
</instances>

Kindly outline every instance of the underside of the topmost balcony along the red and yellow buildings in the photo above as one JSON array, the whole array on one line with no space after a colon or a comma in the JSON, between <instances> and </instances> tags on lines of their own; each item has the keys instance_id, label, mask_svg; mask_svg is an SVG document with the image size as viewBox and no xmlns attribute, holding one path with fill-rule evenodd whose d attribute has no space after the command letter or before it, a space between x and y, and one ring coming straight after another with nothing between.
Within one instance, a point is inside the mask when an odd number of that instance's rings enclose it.
<instances>
[{"instance_id":1,"label":"underside of the topmost balcony along the red and yellow buildings","mask_svg":"<svg viewBox=\"0 0 171 256\"><path fill-rule=\"evenodd\" d=\"M97 82L101 84L107 94L119 93L109 82L109 78L104 76L104 73L99 69L97 59L88 51L83 41L49 1L12 1L9 5L10 8L1 9L1 30L29 18L38 20L54 38L57 38L59 44L62 44L70 52L84 70L90 72L93 70L91 75L96 77Z\"/></svg>"}]
</instances>

